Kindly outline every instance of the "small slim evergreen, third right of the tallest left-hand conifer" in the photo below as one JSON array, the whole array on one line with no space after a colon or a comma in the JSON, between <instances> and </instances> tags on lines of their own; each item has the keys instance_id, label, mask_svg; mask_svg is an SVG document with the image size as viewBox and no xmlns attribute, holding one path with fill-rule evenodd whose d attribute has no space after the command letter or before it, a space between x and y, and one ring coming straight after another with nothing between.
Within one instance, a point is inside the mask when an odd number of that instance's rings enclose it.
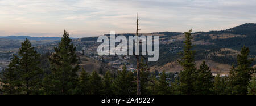
<instances>
[{"instance_id":1,"label":"small slim evergreen, third right of the tallest left-hand conifer","mask_svg":"<svg viewBox=\"0 0 256 106\"><path fill-rule=\"evenodd\" d=\"M105 95L112 95L113 94L113 81L109 71L105 73L104 80L103 80L103 88Z\"/></svg>"}]
</instances>

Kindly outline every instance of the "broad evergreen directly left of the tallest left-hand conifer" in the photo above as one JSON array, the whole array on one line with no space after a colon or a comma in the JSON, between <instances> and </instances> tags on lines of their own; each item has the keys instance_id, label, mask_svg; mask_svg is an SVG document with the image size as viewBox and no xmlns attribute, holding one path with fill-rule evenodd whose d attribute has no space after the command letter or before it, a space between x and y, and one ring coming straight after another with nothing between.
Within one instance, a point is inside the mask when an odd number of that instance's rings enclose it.
<instances>
[{"instance_id":1,"label":"broad evergreen directly left of the tallest left-hand conifer","mask_svg":"<svg viewBox=\"0 0 256 106\"><path fill-rule=\"evenodd\" d=\"M40 94L42 69L39 67L40 54L26 39L19 48L19 90L24 94Z\"/></svg>"}]
</instances>

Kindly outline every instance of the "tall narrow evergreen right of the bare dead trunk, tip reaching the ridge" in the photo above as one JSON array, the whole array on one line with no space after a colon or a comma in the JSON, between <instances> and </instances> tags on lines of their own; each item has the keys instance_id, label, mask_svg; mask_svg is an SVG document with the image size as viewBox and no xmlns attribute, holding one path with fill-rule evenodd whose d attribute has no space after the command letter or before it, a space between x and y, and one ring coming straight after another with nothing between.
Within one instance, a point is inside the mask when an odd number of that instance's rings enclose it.
<instances>
[{"instance_id":1,"label":"tall narrow evergreen right of the bare dead trunk, tip reaching the ridge","mask_svg":"<svg viewBox=\"0 0 256 106\"><path fill-rule=\"evenodd\" d=\"M196 64L195 64L195 51L192 51L193 37L191 36L192 30L185 32L185 45L184 52L181 54L183 58L179 60L179 64L183 67L183 71L180 72L180 87L182 94L191 95L194 92L193 82L197 78Z\"/></svg>"}]
</instances>

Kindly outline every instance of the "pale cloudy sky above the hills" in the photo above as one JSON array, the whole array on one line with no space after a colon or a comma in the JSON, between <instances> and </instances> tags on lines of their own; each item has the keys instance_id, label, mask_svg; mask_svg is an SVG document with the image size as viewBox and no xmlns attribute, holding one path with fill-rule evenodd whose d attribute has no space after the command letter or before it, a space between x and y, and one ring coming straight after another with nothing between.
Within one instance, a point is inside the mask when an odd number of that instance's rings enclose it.
<instances>
[{"instance_id":1,"label":"pale cloudy sky above the hills","mask_svg":"<svg viewBox=\"0 0 256 106\"><path fill-rule=\"evenodd\" d=\"M222 30L256 23L255 0L0 0L0 36Z\"/></svg>"}]
</instances>

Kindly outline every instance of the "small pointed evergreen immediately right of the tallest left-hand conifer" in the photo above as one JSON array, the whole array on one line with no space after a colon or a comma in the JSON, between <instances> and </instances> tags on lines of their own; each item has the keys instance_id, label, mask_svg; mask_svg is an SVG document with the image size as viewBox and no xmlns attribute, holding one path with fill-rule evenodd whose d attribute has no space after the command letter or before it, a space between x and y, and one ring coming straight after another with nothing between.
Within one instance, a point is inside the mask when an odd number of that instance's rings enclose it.
<instances>
[{"instance_id":1,"label":"small pointed evergreen immediately right of the tallest left-hand conifer","mask_svg":"<svg viewBox=\"0 0 256 106\"><path fill-rule=\"evenodd\" d=\"M79 77L79 89L81 89L81 94L88 95L90 94L90 76L82 68L81 75Z\"/></svg>"}]
</instances>

